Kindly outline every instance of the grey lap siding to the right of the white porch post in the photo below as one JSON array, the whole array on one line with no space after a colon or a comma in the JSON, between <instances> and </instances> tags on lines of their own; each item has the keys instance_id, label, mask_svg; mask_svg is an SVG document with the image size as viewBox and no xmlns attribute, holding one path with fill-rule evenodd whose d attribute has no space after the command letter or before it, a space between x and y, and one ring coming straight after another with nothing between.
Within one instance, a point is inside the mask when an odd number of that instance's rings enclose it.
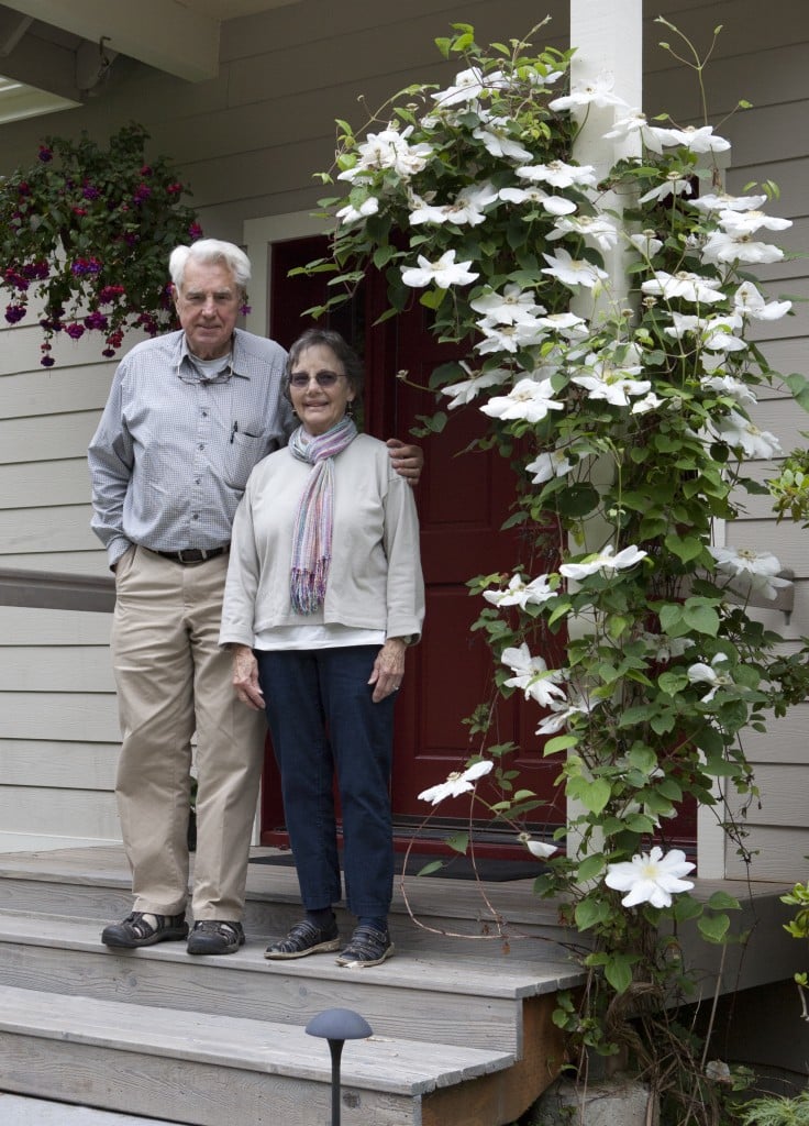
<instances>
[{"instance_id":1,"label":"grey lap siding to the right of the white porch post","mask_svg":"<svg viewBox=\"0 0 809 1126\"><path fill-rule=\"evenodd\" d=\"M710 119L721 122L719 132L732 142L728 189L749 190L752 181L774 180L781 197L767 205L771 214L794 221L780 233L764 233L763 241L776 242L795 253L809 242L809 90L806 59L809 53L809 9L803 3L773 3L767 18L749 0L702 5L683 11L673 23L686 30L703 50L712 28L723 25L714 60L705 71ZM755 34L750 29L755 27ZM657 38L674 43L674 36L659 27ZM647 59L650 57L647 50ZM647 110L668 108L674 95L683 107L683 119L701 124L695 84L671 64L660 64L647 82ZM748 110L725 115L740 98L753 102ZM809 270L806 259L786 260L767 267L753 267L765 283L768 298L809 296ZM809 376L809 303L797 302L794 315L756 327L754 338L771 367L782 374L799 372ZM809 430L809 415L790 401L782 388L762 387L754 411L756 425L770 430L789 452L806 445L801 431ZM775 466L753 463L750 475L765 480ZM789 619L775 610L757 609L754 616L792 640L792 646L809 634L809 539L801 528L777 524L766 497L744 499L745 511L726 529L727 543L773 552L784 566L795 573L794 609ZM754 766L759 796L745 810L750 854L749 868L741 855L728 849L727 875L744 877L748 872L758 879L798 879L806 877L804 856L809 852L806 792L809 784L809 704L793 708L784 718L770 718L765 732L747 731L743 744Z\"/></svg>"}]
</instances>

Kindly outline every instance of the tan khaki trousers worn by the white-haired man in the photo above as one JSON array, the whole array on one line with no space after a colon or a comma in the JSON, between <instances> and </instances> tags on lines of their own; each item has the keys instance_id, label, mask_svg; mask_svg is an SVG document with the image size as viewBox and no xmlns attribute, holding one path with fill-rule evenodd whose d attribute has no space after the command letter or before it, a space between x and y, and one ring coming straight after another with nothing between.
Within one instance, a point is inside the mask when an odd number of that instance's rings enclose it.
<instances>
[{"instance_id":1,"label":"tan khaki trousers worn by the white-haired man","mask_svg":"<svg viewBox=\"0 0 809 1126\"><path fill-rule=\"evenodd\" d=\"M191 736L197 733L195 920L244 913L266 723L236 699L218 646L227 555L181 564L144 547L116 569L116 796L135 910L186 908Z\"/></svg>"}]
</instances>

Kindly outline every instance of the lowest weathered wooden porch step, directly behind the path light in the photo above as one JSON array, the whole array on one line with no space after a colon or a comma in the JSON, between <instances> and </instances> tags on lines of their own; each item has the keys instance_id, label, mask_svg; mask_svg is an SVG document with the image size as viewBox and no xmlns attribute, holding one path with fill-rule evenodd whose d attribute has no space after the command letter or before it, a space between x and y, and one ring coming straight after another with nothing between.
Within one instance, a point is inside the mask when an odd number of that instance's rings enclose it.
<instances>
[{"instance_id":1,"label":"lowest weathered wooden porch step, directly behind the path light","mask_svg":"<svg viewBox=\"0 0 809 1126\"><path fill-rule=\"evenodd\" d=\"M510 1053L374 1035L347 1043L345 1126L428 1126L451 1098L514 1063ZM331 1057L303 1028L206 1012L0 986L7 1091L194 1126L327 1121ZM465 1111L462 1111L465 1112Z\"/></svg>"}]
</instances>

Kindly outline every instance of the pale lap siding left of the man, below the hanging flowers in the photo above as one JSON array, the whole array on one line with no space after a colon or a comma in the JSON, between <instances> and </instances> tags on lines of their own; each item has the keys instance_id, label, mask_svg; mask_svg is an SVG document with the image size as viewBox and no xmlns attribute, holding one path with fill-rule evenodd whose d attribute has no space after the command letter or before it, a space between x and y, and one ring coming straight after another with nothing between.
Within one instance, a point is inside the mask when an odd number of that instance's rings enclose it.
<instances>
[{"instance_id":1,"label":"pale lap siding left of the man, below the hanging flowers","mask_svg":"<svg viewBox=\"0 0 809 1126\"><path fill-rule=\"evenodd\" d=\"M87 446L114 365L59 339L38 367L24 322L0 345L0 566L107 575L90 530ZM120 840L107 614L0 606L0 850Z\"/></svg>"}]
</instances>

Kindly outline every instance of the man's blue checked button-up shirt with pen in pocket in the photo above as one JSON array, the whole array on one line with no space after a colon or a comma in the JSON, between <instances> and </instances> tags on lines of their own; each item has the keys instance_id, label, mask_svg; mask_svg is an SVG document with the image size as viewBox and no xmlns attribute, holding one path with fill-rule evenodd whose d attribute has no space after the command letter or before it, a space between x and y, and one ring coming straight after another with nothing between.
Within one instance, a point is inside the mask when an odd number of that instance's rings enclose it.
<instances>
[{"instance_id":1,"label":"man's blue checked button-up shirt with pen in pocket","mask_svg":"<svg viewBox=\"0 0 809 1126\"><path fill-rule=\"evenodd\" d=\"M131 544L155 552L230 543L257 462L295 428L280 345L236 329L233 366L204 379L185 333L136 345L118 365L90 443L92 529L113 566Z\"/></svg>"}]
</instances>

